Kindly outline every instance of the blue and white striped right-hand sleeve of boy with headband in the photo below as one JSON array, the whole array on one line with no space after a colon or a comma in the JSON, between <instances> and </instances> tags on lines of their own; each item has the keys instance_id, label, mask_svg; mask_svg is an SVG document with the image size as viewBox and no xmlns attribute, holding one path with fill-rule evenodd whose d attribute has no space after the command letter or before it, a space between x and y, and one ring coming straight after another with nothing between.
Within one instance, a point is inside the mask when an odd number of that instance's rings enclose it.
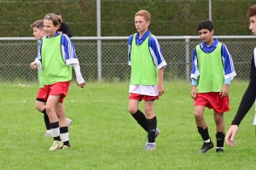
<instances>
[{"instance_id":1,"label":"blue and white striped right-hand sleeve of boy with headband","mask_svg":"<svg viewBox=\"0 0 256 170\"><path fill-rule=\"evenodd\" d=\"M73 42L66 34L61 35L61 54L67 65L72 66L73 64L79 64Z\"/></svg>"}]
</instances>

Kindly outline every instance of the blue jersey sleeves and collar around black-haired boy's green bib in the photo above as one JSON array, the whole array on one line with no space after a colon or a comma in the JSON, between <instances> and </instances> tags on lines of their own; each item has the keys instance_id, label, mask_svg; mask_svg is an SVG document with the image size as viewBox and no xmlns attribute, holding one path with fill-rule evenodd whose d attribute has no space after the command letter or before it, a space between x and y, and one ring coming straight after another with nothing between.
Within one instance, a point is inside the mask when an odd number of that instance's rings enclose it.
<instances>
[{"instance_id":1,"label":"blue jersey sleeves and collar around black-haired boy's green bib","mask_svg":"<svg viewBox=\"0 0 256 170\"><path fill-rule=\"evenodd\" d=\"M219 43L218 39L214 39L214 42L212 43L211 46L207 47L207 44L205 42L201 42L200 46L202 51L204 51L205 53L211 53L218 46L218 43ZM233 64L232 56L228 48L226 48L226 46L224 45L224 43L222 44L221 57L222 57L223 66L224 66L224 79L232 80L234 77L236 77L236 71ZM191 71L190 77L197 80L199 76L200 76L200 71L198 69L198 64L197 64L197 54L194 48L194 51L192 54L192 71Z\"/></svg>"}]
</instances>

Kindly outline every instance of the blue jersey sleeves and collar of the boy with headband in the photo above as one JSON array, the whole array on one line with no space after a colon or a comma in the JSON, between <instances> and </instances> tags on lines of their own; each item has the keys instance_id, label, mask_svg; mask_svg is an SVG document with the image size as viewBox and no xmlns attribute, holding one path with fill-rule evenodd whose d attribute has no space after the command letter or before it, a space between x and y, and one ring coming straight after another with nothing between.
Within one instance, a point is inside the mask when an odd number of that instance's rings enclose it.
<instances>
[{"instance_id":1,"label":"blue jersey sleeves and collar of the boy with headband","mask_svg":"<svg viewBox=\"0 0 256 170\"><path fill-rule=\"evenodd\" d=\"M56 32L55 36L58 36L60 33ZM46 36L45 38L50 38ZM43 40L41 40L39 49L38 49L38 56L37 59L42 63L42 55L41 55L41 48L42 48ZM61 54L63 57L64 62L72 66L73 64L79 64L79 59L75 53L75 48L73 46L73 42L67 37L67 35L62 34L61 35Z\"/></svg>"}]
</instances>

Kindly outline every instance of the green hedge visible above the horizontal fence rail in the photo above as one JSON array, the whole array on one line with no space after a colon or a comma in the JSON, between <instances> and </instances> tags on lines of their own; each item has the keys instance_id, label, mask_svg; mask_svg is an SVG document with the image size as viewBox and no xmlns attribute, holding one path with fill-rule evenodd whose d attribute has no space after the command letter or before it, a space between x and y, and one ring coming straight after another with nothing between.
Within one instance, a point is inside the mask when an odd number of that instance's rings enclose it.
<instances>
[{"instance_id":1,"label":"green hedge visible above the horizontal fence rail","mask_svg":"<svg viewBox=\"0 0 256 170\"><path fill-rule=\"evenodd\" d=\"M254 0L212 1L216 35L250 35L247 8ZM150 29L156 36L197 35L196 25L209 18L208 0L102 0L102 36L129 36L134 14L152 15ZM61 13L74 37L96 36L96 0L0 1L0 37L31 37L30 24L48 13Z\"/></svg>"}]
</instances>

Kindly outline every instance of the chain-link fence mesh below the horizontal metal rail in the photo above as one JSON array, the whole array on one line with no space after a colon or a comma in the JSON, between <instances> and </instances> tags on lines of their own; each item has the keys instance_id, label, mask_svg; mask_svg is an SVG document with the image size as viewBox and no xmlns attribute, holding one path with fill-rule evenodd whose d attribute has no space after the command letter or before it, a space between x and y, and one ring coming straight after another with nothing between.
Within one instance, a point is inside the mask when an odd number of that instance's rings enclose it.
<instances>
[{"instance_id":1,"label":"chain-link fence mesh below the horizontal metal rail","mask_svg":"<svg viewBox=\"0 0 256 170\"><path fill-rule=\"evenodd\" d=\"M238 80L247 80L250 62L255 47L254 39L219 39L229 48L236 67ZM97 42L94 40L73 40L79 57L81 71L87 82L95 82L97 76ZM200 40L189 41L190 55ZM186 81L186 50L184 40L160 40L167 62L165 80ZM37 71L30 69L35 59L38 44L36 41L8 41L0 43L0 81L36 81ZM73 78L74 74L73 74ZM129 81L130 66L127 61L127 42L125 40L102 40L102 81Z\"/></svg>"}]
</instances>

